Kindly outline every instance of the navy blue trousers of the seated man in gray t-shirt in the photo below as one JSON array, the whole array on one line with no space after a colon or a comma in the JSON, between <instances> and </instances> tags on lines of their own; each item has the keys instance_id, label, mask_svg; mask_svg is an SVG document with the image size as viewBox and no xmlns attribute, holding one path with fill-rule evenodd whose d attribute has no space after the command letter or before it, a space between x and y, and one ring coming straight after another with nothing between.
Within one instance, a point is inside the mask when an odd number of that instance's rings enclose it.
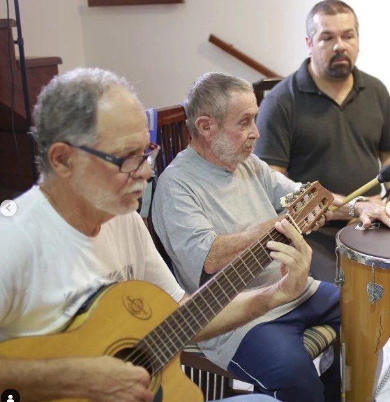
<instances>
[{"instance_id":1,"label":"navy blue trousers of the seated man in gray t-shirt","mask_svg":"<svg viewBox=\"0 0 390 402\"><path fill-rule=\"evenodd\" d=\"M271 322L253 327L241 341L228 371L255 386L255 392L283 402L337 402L340 400L339 354L324 373L317 374L303 346L303 332L328 324L339 332L339 291L322 282L317 292L299 307Z\"/></svg>"}]
</instances>

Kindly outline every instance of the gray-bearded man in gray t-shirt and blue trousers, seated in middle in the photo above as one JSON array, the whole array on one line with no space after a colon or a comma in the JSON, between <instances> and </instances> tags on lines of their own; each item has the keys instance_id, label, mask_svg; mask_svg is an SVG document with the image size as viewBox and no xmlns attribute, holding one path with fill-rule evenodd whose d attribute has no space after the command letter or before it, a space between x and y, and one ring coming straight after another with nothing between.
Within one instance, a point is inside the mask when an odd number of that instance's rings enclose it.
<instances>
[{"instance_id":1,"label":"gray-bearded man in gray t-shirt and blue trousers, seated in middle","mask_svg":"<svg viewBox=\"0 0 390 402\"><path fill-rule=\"evenodd\" d=\"M192 293L278 225L280 197L299 185L252 154L259 133L248 82L220 73L204 75L190 90L186 111L191 144L160 175L152 216L180 285ZM294 247L267 243L275 246L289 257L279 258L275 248L273 261L248 292L277 283L289 265L310 264L303 238ZM223 297L222 288L220 292ZM338 331L339 320L337 288L308 278L294 301L201 342L200 348L263 394L281 401L322 402L323 385L303 347L303 331L316 324Z\"/></svg>"}]
</instances>

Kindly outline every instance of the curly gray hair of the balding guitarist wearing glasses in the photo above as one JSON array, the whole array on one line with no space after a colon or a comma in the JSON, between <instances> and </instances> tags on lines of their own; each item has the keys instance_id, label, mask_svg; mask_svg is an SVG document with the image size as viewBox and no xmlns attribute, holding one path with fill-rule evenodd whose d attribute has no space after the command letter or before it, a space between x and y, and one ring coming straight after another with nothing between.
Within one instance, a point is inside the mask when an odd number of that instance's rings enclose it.
<instances>
[{"instance_id":1,"label":"curly gray hair of the balding guitarist wearing glasses","mask_svg":"<svg viewBox=\"0 0 390 402\"><path fill-rule=\"evenodd\" d=\"M38 145L40 172L52 172L48 151L55 142L87 145L98 140L98 101L110 87L117 85L134 94L125 78L100 68L76 68L56 75L43 87L33 110L31 128Z\"/></svg>"}]
</instances>

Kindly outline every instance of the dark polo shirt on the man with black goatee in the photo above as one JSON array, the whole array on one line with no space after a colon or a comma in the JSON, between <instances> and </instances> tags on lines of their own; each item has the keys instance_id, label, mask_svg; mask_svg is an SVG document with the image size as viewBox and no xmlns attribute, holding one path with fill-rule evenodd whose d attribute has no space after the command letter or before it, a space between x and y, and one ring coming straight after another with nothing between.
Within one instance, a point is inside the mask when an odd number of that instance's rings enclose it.
<instances>
[{"instance_id":1,"label":"dark polo shirt on the man with black goatee","mask_svg":"<svg viewBox=\"0 0 390 402\"><path fill-rule=\"evenodd\" d=\"M390 151L390 99L384 84L354 68L354 87L342 105L299 70L274 87L260 105L255 154L287 168L294 181L319 180L349 194L379 172L379 152ZM380 192L373 188L369 195Z\"/></svg>"}]
</instances>

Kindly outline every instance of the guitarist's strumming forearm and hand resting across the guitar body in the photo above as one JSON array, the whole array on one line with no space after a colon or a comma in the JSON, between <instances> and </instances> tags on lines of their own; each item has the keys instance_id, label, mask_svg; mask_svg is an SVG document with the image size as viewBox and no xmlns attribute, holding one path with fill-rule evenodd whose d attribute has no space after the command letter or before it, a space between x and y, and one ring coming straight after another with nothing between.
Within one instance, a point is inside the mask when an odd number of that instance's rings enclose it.
<instances>
[{"instance_id":1,"label":"guitarist's strumming forearm and hand resting across the guitar body","mask_svg":"<svg viewBox=\"0 0 390 402\"><path fill-rule=\"evenodd\" d=\"M0 389L17 389L23 402L63 398L151 401L149 384L145 368L110 356L45 360L0 357Z\"/></svg>"}]
</instances>

